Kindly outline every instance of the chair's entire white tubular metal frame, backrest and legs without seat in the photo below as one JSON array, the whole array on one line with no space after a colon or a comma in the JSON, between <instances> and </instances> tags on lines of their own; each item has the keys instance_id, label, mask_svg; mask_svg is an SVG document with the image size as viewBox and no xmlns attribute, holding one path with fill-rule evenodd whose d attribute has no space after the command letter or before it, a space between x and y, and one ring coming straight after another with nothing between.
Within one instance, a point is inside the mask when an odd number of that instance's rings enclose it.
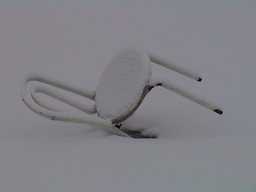
<instances>
[{"instance_id":1,"label":"chair's entire white tubular metal frame, backrest and legs without seat","mask_svg":"<svg viewBox=\"0 0 256 192\"><path fill-rule=\"evenodd\" d=\"M177 68L175 66L173 66L170 62L162 60L161 58L158 58L157 56L155 56L152 53L149 53L149 58L152 62L161 65L163 67L166 67L168 69L171 69L173 71L176 71L182 75L188 76L192 79L195 79L196 81L201 81L202 78L193 75L189 72L186 72L185 70L182 70L180 68ZM82 97L88 98L90 100L94 100L95 98L95 90L85 90L85 89L81 89L63 82L60 82L58 80L54 80L51 78L46 78L44 76L41 75L33 75L33 76L27 76L26 78L24 78L21 82L21 98L23 100L23 102L28 106L28 108L30 108L32 111L34 111L36 114L46 117L48 119L51 120L55 120L55 121L64 121L64 122L73 122L73 123L82 123L82 124L90 124L90 125L94 125L97 126L103 130L107 130L110 132L115 133L116 135L120 135L120 136L124 136L124 137L129 137L131 138L131 136L127 135L126 133L120 131L117 127L116 127L116 123L112 123L111 119L102 119L101 117L95 117L95 116L89 116L89 115L81 115L81 114L77 114L77 113L69 113L69 112L61 112L58 109L53 108L51 105L47 105L45 103L42 103L38 97L38 95L36 94L37 92L46 94L54 99L60 100L61 102L64 102L76 109L79 109L80 111L83 111L85 113L88 114L95 114L96 108L95 108L95 104L93 105L86 105L84 103L81 103L71 97L68 97L66 95L64 95L61 92L58 92L48 86L44 86L42 84L39 85L33 85L30 88L30 92L31 92L31 97L29 97L26 93L26 85L28 82L30 81L37 81L37 82L41 82L44 84L48 84L54 87L58 87L62 90L66 90L68 92L72 92L75 93L77 95L80 95ZM157 78L157 77L150 77L150 81L148 84L145 85L145 87L148 87L148 91L149 92L153 87L156 86L163 86L164 88L175 92L189 100L192 100L212 111L215 111L218 114L222 114L222 110L213 107L212 105L201 101L191 95L189 95L188 93L185 93L183 91L180 91L179 89L175 88L174 86L171 85L171 83L164 79L164 78ZM143 96L141 96L141 99L139 100L139 104L142 102L142 100L144 99L146 94L144 94ZM137 106L138 107L138 106ZM134 112L134 111L133 111ZM132 113L133 113L132 112ZM129 116L132 115L132 113L129 113ZM126 118L128 118L129 116L127 116ZM126 119L125 118L125 119ZM121 122L122 123L122 122ZM120 123L120 124L121 124Z\"/></svg>"}]
</instances>

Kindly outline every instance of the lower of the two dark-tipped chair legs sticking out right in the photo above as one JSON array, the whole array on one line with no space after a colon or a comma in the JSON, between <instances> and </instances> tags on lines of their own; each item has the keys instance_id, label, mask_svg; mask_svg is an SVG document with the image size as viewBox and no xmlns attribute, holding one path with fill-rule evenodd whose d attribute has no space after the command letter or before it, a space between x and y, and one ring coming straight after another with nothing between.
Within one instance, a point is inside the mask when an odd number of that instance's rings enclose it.
<instances>
[{"instance_id":1,"label":"lower of the two dark-tipped chair legs sticking out right","mask_svg":"<svg viewBox=\"0 0 256 192\"><path fill-rule=\"evenodd\" d=\"M222 114L223 111L220 109L220 108L217 108L217 107L214 107L200 99L197 99L196 97L194 96L191 96L190 94L188 93L185 93L183 91L180 91L180 89L177 89L175 88L174 86L171 85L171 82L169 82L168 80L164 79L164 78L158 78L158 77L151 77L150 79L150 82L149 82L149 91L153 88L153 87L156 87L156 86L162 86L172 92L175 92L179 95L181 95L182 97L185 97L191 101L194 101L196 102L197 104L199 105L202 105L204 106L205 108L208 108L218 114Z\"/></svg>"}]
</instances>

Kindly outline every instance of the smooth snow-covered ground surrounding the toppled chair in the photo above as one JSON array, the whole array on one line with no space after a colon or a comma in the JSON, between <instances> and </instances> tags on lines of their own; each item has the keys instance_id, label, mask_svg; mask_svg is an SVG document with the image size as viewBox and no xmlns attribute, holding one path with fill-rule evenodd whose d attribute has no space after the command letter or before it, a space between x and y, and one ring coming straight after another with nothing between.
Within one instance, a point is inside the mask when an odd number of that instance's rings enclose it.
<instances>
[{"instance_id":1,"label":"smooth snow-covered ground surrounding the toppled chair","mask_svg":"<svg viewBox=\"0 0 256 192\"><path fill-rule=\"evenodd\" d=\"M255 1L0 1L0 191L256 191L255 18ZM158 138L129 139L21 101L32 73L96 88L131 45L200 74L152 64L223 115L157 87L124 127Z\"/></svg>"}]
</instances>

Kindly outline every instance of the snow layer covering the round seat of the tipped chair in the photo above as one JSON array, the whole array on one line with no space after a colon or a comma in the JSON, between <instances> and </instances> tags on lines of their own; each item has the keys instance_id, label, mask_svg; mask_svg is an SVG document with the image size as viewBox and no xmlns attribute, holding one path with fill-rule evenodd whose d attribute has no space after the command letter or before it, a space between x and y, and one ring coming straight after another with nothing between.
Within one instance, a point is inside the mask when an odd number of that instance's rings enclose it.
<instances>
[{"instance_id":1,"label":"snow layer covering the round seat of the tipped chair","mask_svg":"<svg viewBox=\"0 0 256 192\"><path fill-rule=\"evenodd\" d=\"M118 52L103 70L96 88L96 109L103 119L125 116L137 104L151 76L147 52L128 47Z\"/></svg>"}]
</instances>

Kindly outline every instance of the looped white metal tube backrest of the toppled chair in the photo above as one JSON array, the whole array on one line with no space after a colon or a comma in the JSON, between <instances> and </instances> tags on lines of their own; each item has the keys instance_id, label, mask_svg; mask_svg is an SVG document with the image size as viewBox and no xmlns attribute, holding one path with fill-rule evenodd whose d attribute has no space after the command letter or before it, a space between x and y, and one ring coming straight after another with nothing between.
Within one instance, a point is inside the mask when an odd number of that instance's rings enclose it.
<instances>
[{"instance_id":1,"label":"looped white metal tube backrest of the toppled chair","mask_svg":"<svg viewBox=\"0 0 256 192\"><path fill-rule=\"evenodd\" d=\"M73 123L82 123L82 124L90 124L97 126L101 129L111 131L115 133L116 135L129 137L131 136L127 135L126 133L120 131L118 128L116 128L112 124L110 119L102 119L100 117L94 117L89 115L81 115L81 114L75 114L75 113L67 113L67 112L60 112L56 111L49 106L45 106L44 104L41 104L40 100L36 97L36 92L44 93L48 96L51 96L57 100L60 100L74 108L78 108L79 110L84 111L85 113L93 114L96 112L95 105L89 106L84 105L83 103L80 103L72 98L69 98L65 95L63 95L60 92L57 92L49 87L42 86L42 85L36 85L31 87L31 97L33 100L31 100L30 97L26 94L26 84L29 81L38 81L44 84L52 85L54 87L58 87L60 89L66 90L68 92L75 93L77 95L83 96L85 98L94 100L95 98L95 91L90 90L81 90L79 88L70 87L68 84L61 83L56 80L47 79L40 75L33 75L28 76L24 78L21 82L21 98L22 101L27 105L28 108L30 108L32 111L34 111L36 114L43 116L45 118L55 120L55 121L64 121L64 122L73 122Z\"/></svg>"}]
</instances>

